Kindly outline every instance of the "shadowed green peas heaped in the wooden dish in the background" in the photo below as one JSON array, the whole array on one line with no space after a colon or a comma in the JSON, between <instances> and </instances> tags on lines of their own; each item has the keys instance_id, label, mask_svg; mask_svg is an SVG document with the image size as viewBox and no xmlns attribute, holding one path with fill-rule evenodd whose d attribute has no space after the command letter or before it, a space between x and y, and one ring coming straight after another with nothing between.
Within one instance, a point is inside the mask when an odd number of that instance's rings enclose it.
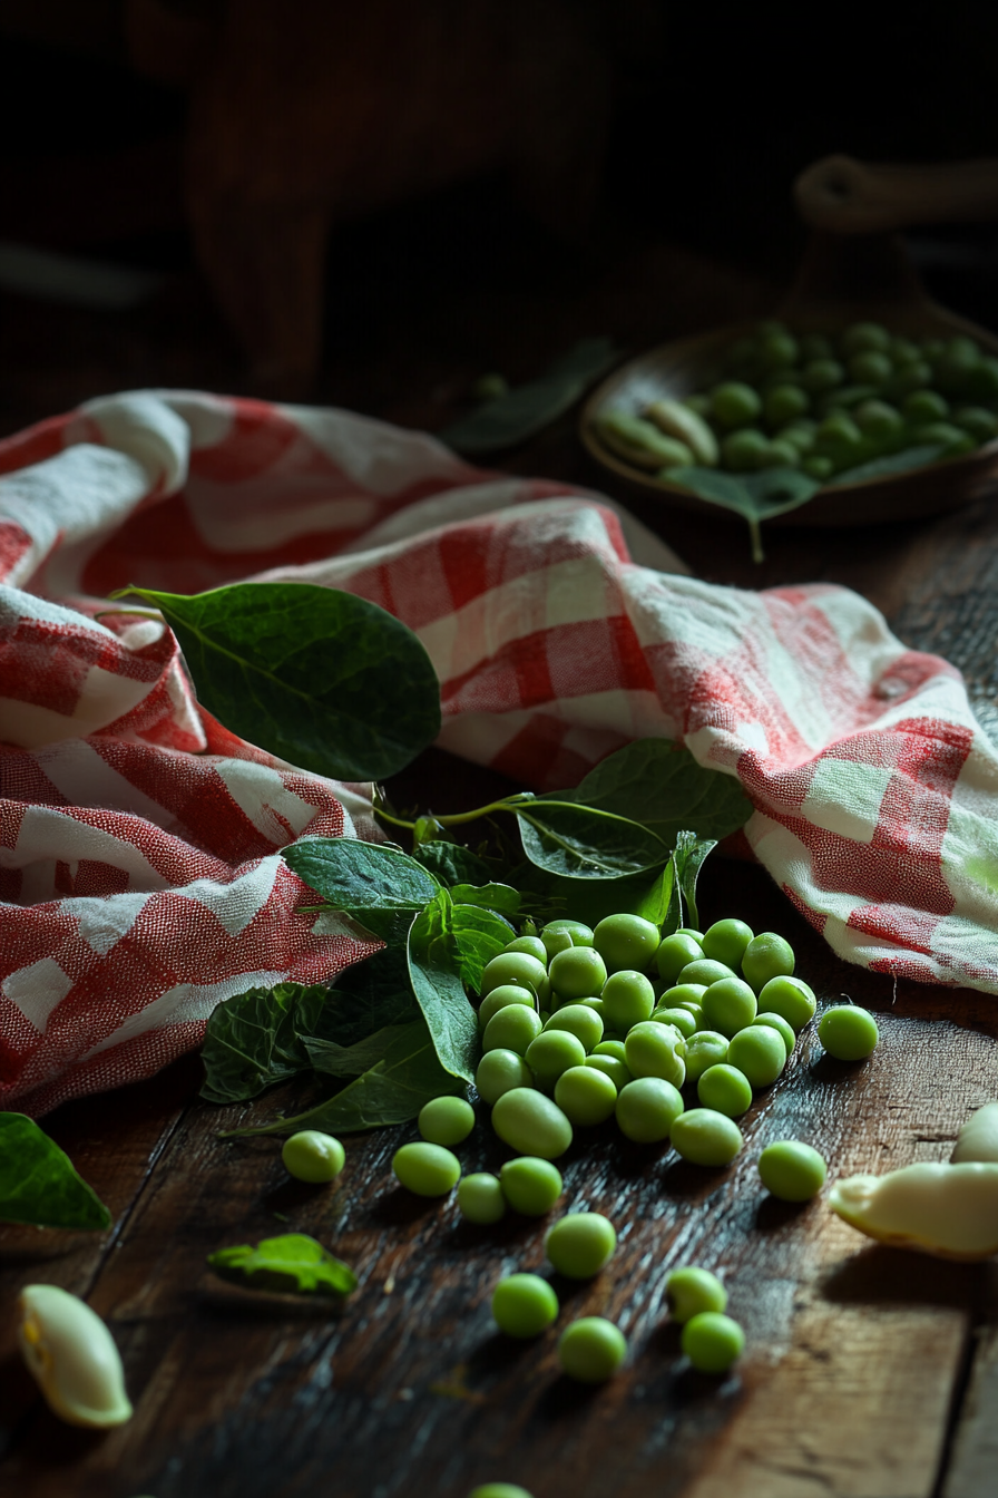
<instances>
[{"instance_id":1,"label":"shadowed green peas heaped in the wooden dish in the background","mask_svg":"<svg viewBox=\"0 0 998 1498\"><path fill-rule=\"evenodd\" d=\"M613 413L607 427L660 476L678 463L733 473L799 467L818 482L905 448L938 446L961 457L998 436L998 358L970 337L908 339L878 322L841 333L798 333L762 322L721 355L717 380L678 404L700 427L655 401L640 416ZM688 451L667 455L682 433ZM646 461L643 460L646 451Z\"/></svg>"}]
</instances>

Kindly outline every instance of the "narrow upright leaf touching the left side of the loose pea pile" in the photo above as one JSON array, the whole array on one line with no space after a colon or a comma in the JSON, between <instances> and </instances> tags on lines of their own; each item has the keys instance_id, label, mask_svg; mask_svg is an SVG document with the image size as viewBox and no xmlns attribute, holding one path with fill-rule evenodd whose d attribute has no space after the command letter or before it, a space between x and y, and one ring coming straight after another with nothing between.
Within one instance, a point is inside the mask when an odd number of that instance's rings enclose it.
<instances>
[{"instance_id":1,"label":"narrow upright leaf touching the left side of the loose pea pile","mask_svg":"<svg viewBox=\"0 0 998 1498\"><path fill-rule=\"evenodd\" d=\"M438 890L410 927L408 977L441 1067L452 1076L471 1082L477 1064L479 1029L461 981L452 921L450 896L446 890Z\"/></svg>"}]
</instances>

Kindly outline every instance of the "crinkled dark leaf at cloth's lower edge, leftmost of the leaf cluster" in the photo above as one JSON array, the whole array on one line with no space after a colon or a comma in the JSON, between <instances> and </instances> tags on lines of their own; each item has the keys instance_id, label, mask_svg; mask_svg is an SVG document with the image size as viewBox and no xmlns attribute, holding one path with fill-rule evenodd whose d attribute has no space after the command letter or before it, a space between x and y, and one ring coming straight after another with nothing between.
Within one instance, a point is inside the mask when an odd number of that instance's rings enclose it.
<instances>
[{"instance_id":1,"label":"crinkled dark leaf at cloth's lower edge, leftmost of the leaf cluster","mask_svg":"<svg viewBox=\"0 0 998 1498\"><path fill-rule=\"evenodd\" d=\"M308 1055L298 1040L298 1005L307 990L299 983L274 989L247 989L223 999L208 1017L200 1059L208 1103L245 1103L275 1082L308 1071ZM329 989L308 990L323 1004Z\"/></svg>"}]
</instances>

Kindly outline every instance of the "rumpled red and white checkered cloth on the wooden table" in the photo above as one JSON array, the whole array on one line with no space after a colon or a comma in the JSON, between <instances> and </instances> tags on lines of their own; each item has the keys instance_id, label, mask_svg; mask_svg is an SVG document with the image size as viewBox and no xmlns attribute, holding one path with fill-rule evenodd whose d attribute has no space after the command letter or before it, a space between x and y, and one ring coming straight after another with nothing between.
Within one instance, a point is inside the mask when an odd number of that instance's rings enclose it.
<instances>
[{"instance_id":1,"label":"rumpled red and white checkered cloth on the wooden table","mask_svg":"<svg viewBox=\"0 0 998 1498\"><path fill-rule=\"evenodd\" d=\"M998 753L857 595L660 571L599 496L338 410L108 397L0 443L0 1107L148 1076L220 999L368 951L295 914L277 849L370 828L370 788L229 734L160 623L94 617L129 583L382 604L434 661L440 743L536 789L679 739L741 779L756 857L836 953L998 992Z\"/></svg>"}]
</instances>

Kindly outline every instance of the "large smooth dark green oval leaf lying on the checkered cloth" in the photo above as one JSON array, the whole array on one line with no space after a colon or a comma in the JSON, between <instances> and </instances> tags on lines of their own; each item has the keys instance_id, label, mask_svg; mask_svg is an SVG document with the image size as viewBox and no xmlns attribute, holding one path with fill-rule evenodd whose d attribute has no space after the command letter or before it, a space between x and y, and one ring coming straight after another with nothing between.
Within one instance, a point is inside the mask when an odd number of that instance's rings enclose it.
<instances>
[{"instance_id":1,"label":"large smooth dark green oval leaf lying on the checkered cloth","mask_svg":"<svg viewBox=\"0 0 998 1498\"><path fill-rule=\"evenodd\" d=\"M148 587L198 698L226 728L344 780L394 774L440 733L440 683L416 635L377 604L311 583Z\"/></svg>"}]
</instances>

